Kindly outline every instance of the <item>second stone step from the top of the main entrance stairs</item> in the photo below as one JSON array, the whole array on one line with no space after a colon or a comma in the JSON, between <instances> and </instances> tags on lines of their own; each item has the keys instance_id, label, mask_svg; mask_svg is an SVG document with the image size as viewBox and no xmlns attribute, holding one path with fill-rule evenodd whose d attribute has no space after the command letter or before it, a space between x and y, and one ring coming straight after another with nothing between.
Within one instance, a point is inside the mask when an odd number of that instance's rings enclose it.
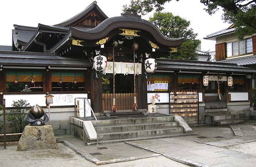
<instances>
[{"instance_id":1,"label":"second stone step from the top of the main entrance stairs","mask_svg":"<svg viewBox=\"0 0 256 167\"><path fill-rule=\"evenodd\" d=\"M99 126L99 133L109 132L123 132L123 131L138 131L148 129L162 129L168 127L178 126L178 122L158 122L158 123L142 123L131 125L111 125L111 126ZM96 130L96 126L94 127Z\"/></svg>"}]
</instances>

